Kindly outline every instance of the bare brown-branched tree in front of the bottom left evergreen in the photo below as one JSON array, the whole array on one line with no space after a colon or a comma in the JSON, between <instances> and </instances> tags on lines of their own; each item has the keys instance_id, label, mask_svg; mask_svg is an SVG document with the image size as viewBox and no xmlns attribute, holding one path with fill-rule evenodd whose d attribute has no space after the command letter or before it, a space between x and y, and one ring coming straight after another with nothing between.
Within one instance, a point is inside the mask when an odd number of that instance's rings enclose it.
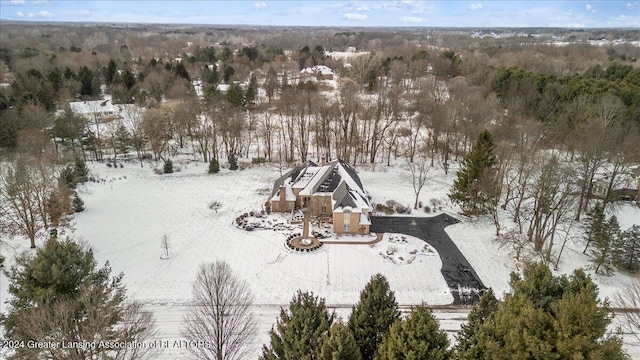
<instances>
[{"instance_id":1,"label":"bare brown-branched tree in front of the bottom left evergreen","mask_svg":"<svg viewBox=\"0 0 640 360\"><path fill-rule=\"evenodd\" d=\"M101 286L82 285L79 292L77 300L62 298L44 303L26 310L17 319L19 334L15 336L65 346L24 347L16 354L17 358L134 360L156 354L156 349L147 346L107 346L143 343L155 335L153 316L143 311L139 303L122 304L119 294L106 295ZM79 312L84 313L81 320ZM69 345L77 343L86 346Z\"/></svg>"}]
</instances>

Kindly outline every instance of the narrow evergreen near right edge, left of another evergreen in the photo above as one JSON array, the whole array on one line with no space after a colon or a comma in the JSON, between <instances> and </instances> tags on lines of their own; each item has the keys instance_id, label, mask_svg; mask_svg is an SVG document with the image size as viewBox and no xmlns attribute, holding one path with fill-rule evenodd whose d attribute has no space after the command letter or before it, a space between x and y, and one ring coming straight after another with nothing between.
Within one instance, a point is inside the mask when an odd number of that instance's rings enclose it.
<instances>
[{"instance_id":1,"label":"narrow evergreen near right edge, left of another evergreen","mask_svg":"<svg viewBox=\"0 0 640 360\"><path fill-rule=\"evenodd\" d=\"M616 240L620 236L620 225L615 215L609 217L602 229L593 236L591 248L591 262L595 266L596 274L602 271L610 274L613 271L615 259L618 258Z\"/></svg>"}]
</instances>

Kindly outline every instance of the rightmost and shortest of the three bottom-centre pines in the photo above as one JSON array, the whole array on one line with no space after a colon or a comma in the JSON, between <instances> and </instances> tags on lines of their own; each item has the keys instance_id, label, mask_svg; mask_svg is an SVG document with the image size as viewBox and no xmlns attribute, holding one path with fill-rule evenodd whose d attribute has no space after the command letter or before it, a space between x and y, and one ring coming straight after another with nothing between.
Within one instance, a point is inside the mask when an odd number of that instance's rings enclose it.
<instances>
[{"instance_id":1,"label":"rightmost and shortest of the three bottom-centre pines","mask_svg":"<svg viewBox=\"0 0 640 360\"><path fill-rule=\"evenodd\" d=\"M440 330L431 309L417 306L409 317L396 321L384 338L377 360L446 360L452 357L447 334Z\"/></svg>"}]
</instances>

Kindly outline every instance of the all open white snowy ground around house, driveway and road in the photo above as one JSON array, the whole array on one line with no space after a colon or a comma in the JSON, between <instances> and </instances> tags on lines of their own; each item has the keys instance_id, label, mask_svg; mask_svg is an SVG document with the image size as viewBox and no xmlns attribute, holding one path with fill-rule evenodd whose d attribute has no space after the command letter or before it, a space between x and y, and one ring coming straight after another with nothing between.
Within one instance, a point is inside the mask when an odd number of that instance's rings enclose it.
<instances>
[{"instance_id":1,"label":"all open white snowy ground around house, driveway and road","mask_svg":"<svg viewBox=\"0 0 640 360\"><path fill-rule=\"evenodd\" d=\"M286 235L282 232L249 232L235 227L233 220L238 215L261 209L273 181L280 176L276 167L263 165L234 172L223 169L207 175L205 164L185 162L180 172L157 175L146 163L144 168L133 163L125 163L124 168L89 165L92 175L101 181L79 188L86 210L77 214L72 236L94 249L100 265L109 261L114 274L124 272L128 296L154 310L162 340L180 338L181 309L188 306L196 270L200 264L216 259L228 262L255 295L261 331L256 352L268 341L266 332L275 323L277 309L286 306L298 289L324 297L330 306L343 309L339 311L343 317L375 273L387 277L401 305L446 305L453 301L436 253L418 251L411 263L406 261L411 251L423 247L418 239L407 237L406 242L398 243L398 236L390 242L390 235L386 235L375 245L326 245L312 253L296 253L285 247ZM419 209L411 216L433 216L442 211L455 216L457 208L446 196L455 170L448 176L440 170L431 171L433 177L420 201L436 212ZM413 205L415 194L406 170L376 165L359 171L374 203L393 199ZM222 204L217 212L209 208L213 201ZM622 229L640 224L637 207L621 208L618 217ZM495 230L490 221L463 219L446 231L485 285L498 295L509 290L509 274L517 270L516 264L506 250L491 241ZM168 236L170 246L170 258L165 260L161 259L163 235ZM13 262L12 254L28 248L24 239L13 239L10 244L3 249L3 254L9 253L7 266ZM381 255L390 246L396 247L396 257L404 254L403 261L394 263ZM589 265L582 247L578 237L567 243L559 274ZM600 294L609 298L630 280L626 275L606 277L588 272L600 287ZM4 275L0 282L4 310ZM459 323L456 320L453 327ZM162 357L179 358L182 354L183 349L172 349Z\"/></svg>"}]
</instances>

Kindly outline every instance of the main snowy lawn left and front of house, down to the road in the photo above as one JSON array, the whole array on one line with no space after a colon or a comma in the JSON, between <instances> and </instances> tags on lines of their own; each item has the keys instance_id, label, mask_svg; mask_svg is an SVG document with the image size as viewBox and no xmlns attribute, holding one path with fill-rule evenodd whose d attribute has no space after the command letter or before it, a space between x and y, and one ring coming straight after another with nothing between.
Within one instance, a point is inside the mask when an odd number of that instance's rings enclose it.
<instances>
[{"instance_id":1,"label":"main snowy lawn left and front of house, down to the road","mask_svg":"<svg viewBox=\"0 0 640 360\"><path fill-rule=\"evenodd\" d=\"M386 241L296 253L285 248L281 232L234 226L238 215L261 210L279 176L274 168L206 175L205 166L192 163L181 172L156 175L148 167L97 164L92 172L106 182L82 187L87 210L78 214L74 236L86 240L100 262L108 260L114 272L123 271L129 296L144 303L189 302L198 266L216 259L227 261L250 283L257 304L286 305L298 289L313 291L329 304L353 304L378 272L401 304L452 302L438 256L400 266L379 255L386 252ZM221 203L217 213L209 209L213 201ZM165 234L168 260L160 258Z\"/></svg>"}]
</instances>

